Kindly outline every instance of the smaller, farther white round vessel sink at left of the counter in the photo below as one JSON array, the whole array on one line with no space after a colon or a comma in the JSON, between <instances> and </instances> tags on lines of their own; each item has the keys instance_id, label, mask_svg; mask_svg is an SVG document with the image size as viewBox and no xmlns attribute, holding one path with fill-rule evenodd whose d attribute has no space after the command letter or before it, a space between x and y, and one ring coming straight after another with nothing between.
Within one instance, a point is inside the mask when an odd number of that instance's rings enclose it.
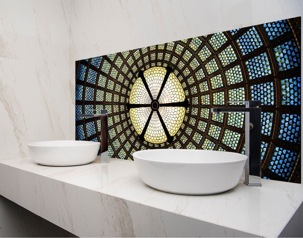
<instances>
[{"instance_id":1,"label":"smaller, farther white round vessel sink at left of the counter","mask_svg":"<svg viewBox=\"0 0 303 238\"><path fill-rule=\"evenodd\" d=\"M95 160L100 142L42 141L27 144L32 160L40 165L85 165Z\"/></svg>"}]
</instances>

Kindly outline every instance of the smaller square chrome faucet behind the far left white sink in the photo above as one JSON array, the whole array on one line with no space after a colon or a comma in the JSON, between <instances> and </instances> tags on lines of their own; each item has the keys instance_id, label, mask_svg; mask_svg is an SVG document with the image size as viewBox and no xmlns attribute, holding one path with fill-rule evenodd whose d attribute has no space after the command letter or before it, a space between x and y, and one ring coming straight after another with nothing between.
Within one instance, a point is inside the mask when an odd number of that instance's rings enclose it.
<instances>
[{"instance_id":1,"label":"smaller square chrome faucet behind the far left white sink","mask_svg":"<svg viewBox=\"0 0 303 238\"><path fill-rule=\"evenodd\" d=\"M108 110L107 109L89 109L90 111L99 111L99 114L79 114L80 118L100 117L101 118L101 163L108 163Z\"/></svg>"}]
</instances>

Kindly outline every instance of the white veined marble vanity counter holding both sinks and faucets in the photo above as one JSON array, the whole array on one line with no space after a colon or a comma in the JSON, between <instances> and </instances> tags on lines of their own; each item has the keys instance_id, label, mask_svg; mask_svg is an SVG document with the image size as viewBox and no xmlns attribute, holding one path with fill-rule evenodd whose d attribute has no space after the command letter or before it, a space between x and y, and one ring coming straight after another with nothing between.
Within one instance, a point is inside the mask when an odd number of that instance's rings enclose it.
<instances>
[{"instance_id":1,"label":"white veined marble vanity counter holding both sinks and faucets","mask_svg":"<svg viewBox=\"0 0 303 238\"><path fill-rule=\"evenodd\" d=\"M80 237L303 236L303 184L241 180L221 194L169 194L144 184L133 161L99 161L1 160L0 194Z\"/></svg>"}]
</instances>

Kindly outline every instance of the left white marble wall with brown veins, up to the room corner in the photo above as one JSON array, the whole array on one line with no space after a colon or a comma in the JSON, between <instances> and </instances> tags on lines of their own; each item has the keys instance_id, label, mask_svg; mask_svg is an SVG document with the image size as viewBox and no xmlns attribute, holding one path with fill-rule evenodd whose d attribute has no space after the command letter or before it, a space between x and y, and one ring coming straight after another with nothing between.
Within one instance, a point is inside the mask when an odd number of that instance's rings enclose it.
<instances>
[{"instance_id":1,"label":"left white marble wall with brown veins, up to the room corner","mask_svg":"<svg viewBox=\"0 0 303 238\"><path fill-rule=\"evenodd\" d=\"M68 139L69 1L0 1L0 159Z\"/></svg>"}]
</instances>

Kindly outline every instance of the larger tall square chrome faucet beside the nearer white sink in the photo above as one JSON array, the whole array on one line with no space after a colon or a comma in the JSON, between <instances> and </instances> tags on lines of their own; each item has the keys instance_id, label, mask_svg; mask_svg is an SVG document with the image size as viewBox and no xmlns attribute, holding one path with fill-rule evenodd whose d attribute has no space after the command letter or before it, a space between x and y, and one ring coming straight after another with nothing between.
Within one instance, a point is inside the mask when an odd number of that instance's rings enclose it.
<instances>
[{"instance_id":1,"label":"larger tall square chrome faucet beside the nearer white sink","mask_svg":"<svg viewBox=\"0 0 303 238\"><path fill-rule=\"evenodd\" d=\"M214 107L211 112L245 112L245 181L248 186L261 184L261 101L228 101L228 103L245 103L245 107Z\"/></svg>"}]
</instances>

